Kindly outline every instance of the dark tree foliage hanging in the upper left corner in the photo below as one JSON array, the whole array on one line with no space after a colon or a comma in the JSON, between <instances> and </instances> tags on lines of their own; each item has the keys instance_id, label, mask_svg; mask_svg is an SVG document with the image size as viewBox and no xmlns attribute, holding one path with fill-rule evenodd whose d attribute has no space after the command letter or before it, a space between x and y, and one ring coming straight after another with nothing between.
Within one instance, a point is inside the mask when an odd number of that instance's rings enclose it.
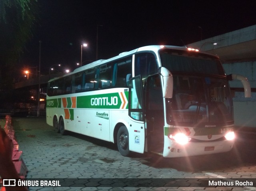
<instances>
[{"instance_id":1,"label":"dark tree foliage hanging in the upper left corner","mask_svg":"<svg viewBox=\"0 0 256 191\"><path fill-rule=\"evenodd\" d=\"M33 36L37 0L0 0L0 89L12 87L13 71Z\"/></svg>"}]
</instances>

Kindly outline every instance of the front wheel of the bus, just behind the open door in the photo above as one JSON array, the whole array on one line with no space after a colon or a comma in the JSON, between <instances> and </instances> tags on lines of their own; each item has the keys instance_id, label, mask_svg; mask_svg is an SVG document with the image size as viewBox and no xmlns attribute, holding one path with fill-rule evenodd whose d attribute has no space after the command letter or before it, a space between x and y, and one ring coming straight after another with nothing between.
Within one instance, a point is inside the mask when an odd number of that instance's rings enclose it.
<instances>
[{"instance_id":1,"label":"front wheel of the bus, just behind the open door","mask_svg":"<svg viewBox=\"0 0 256 191\"><path fill-rule=\"evenodd\" d=\"M129 134L126 126L121 126L118 129L116 136L117 147L122 156L128 156L129 150Z\"/></svg>"}]
</instances>

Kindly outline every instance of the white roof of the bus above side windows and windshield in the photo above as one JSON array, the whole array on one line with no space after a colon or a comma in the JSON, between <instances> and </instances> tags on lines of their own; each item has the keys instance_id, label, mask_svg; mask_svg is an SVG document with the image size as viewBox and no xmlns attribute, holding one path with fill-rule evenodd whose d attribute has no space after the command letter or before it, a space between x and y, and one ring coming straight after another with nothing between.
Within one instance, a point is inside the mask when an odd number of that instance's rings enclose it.
<instances>
[{"instance_id":1,"label":"white roof of the bus above side windows and windshield","mask_svg":"<svg viewBox=\"0 0 256 191\"><path fill-rule=\"evenodd\" d=\"M134 50L131 50L131 51L128 51L128 52L123 52L123 53L120 53L119 55L115 56L115 57L112 57L112 58L109 58L109 59L101 59L101 60L97 60L97 61L94 61L92 63L88 63L84 66L81 66L77 69L75 69L73 72L70 72L68 74L65 74L65 75L62 75L60 77L56 77L56 78L53 78L53 79L50 79L50 81L54 81L56 79L59 79L59 78L62 78L64 76L68 76L68 75L72 75L74 73L77 73L79 71L84 71L86 69L90 69L90 68L93 68L93 67L96 67L98 65L101 65L103 63L108 63L110 61L114 61L116 59L119 59L119 58L122 58L122 57L126 57L126 56L129 56L129 55L132 55L136 52L140 52L140 51L154 51L155 53L157 53L160 49L164 49L164 48L167 48L167 49L175 49L175 50L183 50L183 51L188 51L188 48L187 47L180 47L180 46L171 46L171 45L148 45L148 46L144 46L144 47L140 47L140 48L137 48L137 49L134 49ZM201 52L201 51L200 51ZM215 56L218 58L217 55L212 55L210 53L206 53L206 52L201 52L201 53L204 53L206 55L210 55L210 56Z\"/></svg>"}]
</instances>

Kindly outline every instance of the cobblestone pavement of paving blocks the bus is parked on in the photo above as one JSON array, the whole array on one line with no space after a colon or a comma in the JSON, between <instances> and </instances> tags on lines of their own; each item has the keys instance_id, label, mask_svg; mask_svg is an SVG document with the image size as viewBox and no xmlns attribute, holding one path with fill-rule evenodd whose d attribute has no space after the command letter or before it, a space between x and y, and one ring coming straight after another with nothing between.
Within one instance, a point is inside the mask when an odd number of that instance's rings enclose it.
<instances>
[{"instance_id":1,"label":"cobblestone pavement of paving blocks the bus is parked on","mask_svg":"<svg viewBox=\"0 0 256 191\"><path fill-rule=\"evenodd\" d=\"M249 186L198 186L198 180L204 178L255 179L256 136L253 135L248 138L248 134L239 134L235 148L225 154L190 158L162 158L150 154L124 157L112 143L75 133L61 136L46 124L43 117L13 118L12 124L20 150L23 151L22 159L28 167L27 179L74 178L88 182L87 187L30 187L30 190L256 190ZM114 178L132 178L130 180L138 182L139 178L180 180L176 187L164 187L159 182L152 183L150 187L122 187L120 182L113 184L111 179ZM106 182L98 187L100 180Z\"/></svg>"}]
</instances>

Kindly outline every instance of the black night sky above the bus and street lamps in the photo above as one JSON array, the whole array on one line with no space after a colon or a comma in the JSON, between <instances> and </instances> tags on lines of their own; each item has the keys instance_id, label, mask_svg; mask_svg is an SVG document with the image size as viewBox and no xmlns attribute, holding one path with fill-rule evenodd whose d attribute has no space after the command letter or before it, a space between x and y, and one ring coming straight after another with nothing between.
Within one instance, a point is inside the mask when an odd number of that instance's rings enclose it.
<instances>
[{"instance_id":1,"label":"black night sky above the bus and street lamps","mask_svg":"<svg viewBox=\"0 0 256 191\"><path fill-rule=\"evenodd\" d=\"M237 0L38 0L40 18L21 58L21 66L39 63L75 69L80 62L108 59L145 45L200 41L256 24L256 1ZM85 64L86 62L84 62ZM62 71L62 69L58 69Z\"/></svg>"}]
</instances>

